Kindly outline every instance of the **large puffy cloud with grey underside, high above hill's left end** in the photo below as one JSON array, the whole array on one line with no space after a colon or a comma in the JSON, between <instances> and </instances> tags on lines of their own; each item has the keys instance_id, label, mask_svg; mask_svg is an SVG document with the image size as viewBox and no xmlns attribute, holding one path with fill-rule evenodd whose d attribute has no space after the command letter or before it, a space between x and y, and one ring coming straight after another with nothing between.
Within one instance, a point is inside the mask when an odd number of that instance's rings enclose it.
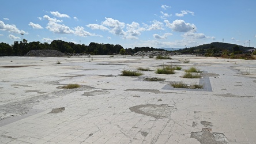
<instances>
[{"instance_id":1,"label":"large puffy cloud with grey underside, high above hill's left end","mask_svg":"<svg viewBox=\"0 0 256 144\"><path fill-rule=\"evenodd\" d=\"M194 32L196 29L194 24L186 23L183 20L175 20L172 24L168 20L164 20L164 22L174 32Z\"/></svg>"}]
</instances>

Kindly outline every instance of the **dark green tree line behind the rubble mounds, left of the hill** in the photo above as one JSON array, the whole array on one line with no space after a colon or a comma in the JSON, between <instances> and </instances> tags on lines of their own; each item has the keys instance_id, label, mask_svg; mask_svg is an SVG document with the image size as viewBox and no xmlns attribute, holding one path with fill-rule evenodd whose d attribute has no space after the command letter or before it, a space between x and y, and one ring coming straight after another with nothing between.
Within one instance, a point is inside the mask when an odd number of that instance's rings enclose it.
<instances>
[{"instance_id":1,"label":"dark green tree line behind the rubble mounds, left of the hill","mask_svg":"<svg viewBox=\"0 0 256 144\"><path fill-rule=\"evenodd\" d=\"M123 48L120 44L103 44L91 42L89 46L85 44L75 44L63 40L53 40L49 43L40 43L39 41L29 42L26 39L22 41L14 41L12 45L0 43L0 55L24 55L31 50L58 50L69 54L91 54L91 55L112 55L119 54L132 55L138 51L164 51L153 47L135 47Z\"/></svg>"}]
</instances>

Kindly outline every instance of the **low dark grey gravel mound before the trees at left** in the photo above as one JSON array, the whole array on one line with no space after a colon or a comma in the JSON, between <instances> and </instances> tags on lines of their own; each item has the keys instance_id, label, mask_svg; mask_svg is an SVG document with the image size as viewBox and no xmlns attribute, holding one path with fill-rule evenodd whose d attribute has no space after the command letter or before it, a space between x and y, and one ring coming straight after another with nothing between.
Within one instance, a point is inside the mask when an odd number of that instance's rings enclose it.
<instances>
[{"instance_id":1,"label":"low dark grey gravel mound before the trees at left","mask_svg":"<svg viewBox=\"0 0 256 144\"><path fill-rule=\"evenodd\" d=\"M66 54L57 50L32 50L24 56L48 56L48 57L61 57L67 56Z\"/></svg>"}]
</instances>

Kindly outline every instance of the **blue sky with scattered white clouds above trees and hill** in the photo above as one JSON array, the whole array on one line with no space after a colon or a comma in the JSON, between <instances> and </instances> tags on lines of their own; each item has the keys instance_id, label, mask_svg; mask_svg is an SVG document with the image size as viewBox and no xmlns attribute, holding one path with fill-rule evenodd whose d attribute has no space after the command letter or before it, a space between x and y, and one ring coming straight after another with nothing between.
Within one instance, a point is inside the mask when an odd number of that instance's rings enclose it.
<instances>
[{"instance_id":1,"label":"blue sky with scattered white clouds above trees and hill","mask_svg":"<svg viewBox=\"0 0 256 144\"><path fill-rule=\"evenodd\" d=\"M8 0L1 1L0 42L184 48L224 39L256 47L255 6L255 0Z\"/></svg>"}]
</instances>

